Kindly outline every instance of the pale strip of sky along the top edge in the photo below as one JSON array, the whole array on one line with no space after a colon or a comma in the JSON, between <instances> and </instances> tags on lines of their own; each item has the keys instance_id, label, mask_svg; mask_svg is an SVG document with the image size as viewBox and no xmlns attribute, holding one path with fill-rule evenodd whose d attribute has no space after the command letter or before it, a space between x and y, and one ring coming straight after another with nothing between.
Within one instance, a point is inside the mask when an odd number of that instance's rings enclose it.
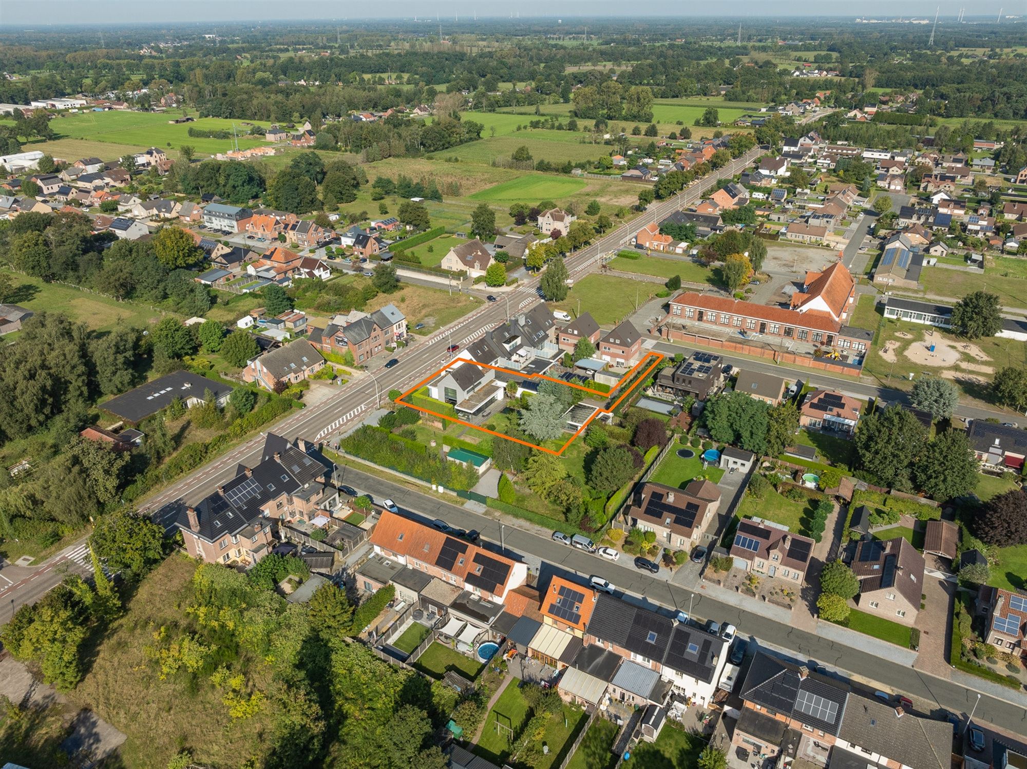
<instances>
[{"instance_id":1,"label":"pale strip of sky along the top edge","mask_svg":"<svg viewBox=\"0 0 1027 769\"><path fill-rule=\"evenodd\" d=\"M980 13L997 16L1004 5L1005 14L1024 13L1024 0L947 0L941 3L942 15L952 15L960 7L967 15ZM854 17L934 16L939 7L937 0L819 0L815 3L798 0L733 0L730 5L698 3L694 1L668 2L667 0L389 0L384 4L364 3L354 0L177 0L170 3L156 0L34 0L17 2L0 0L0 29L4 25L50 24L105 24L147 22L220 22L220 21L288 21L288 20L358 20L382 15L387 8L392 18L434 17L452 20L455 14L471 18L479 16L509 16L520 11L521 16L665 16L670 13L702 16L772 15L775 18L790 15L837 15ZM725 13L725 9L729 12Z\"/></svg>"}]
</instances>

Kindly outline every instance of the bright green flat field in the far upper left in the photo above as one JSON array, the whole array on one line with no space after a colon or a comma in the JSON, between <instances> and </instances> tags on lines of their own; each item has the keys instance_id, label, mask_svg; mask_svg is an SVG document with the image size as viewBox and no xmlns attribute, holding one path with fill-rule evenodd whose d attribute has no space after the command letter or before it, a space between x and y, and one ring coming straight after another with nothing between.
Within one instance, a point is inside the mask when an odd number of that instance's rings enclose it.
<instances>
[{"instance_id":1,"label":"bright green flat field in the far upper left","mask_svg":"<svg viewBox=\"0 0 1027 769\"><path fill-rule=\"evenodd\" d=\"M231 130L232 120L218 117L197 118L192 123L170 124L167 121L179 117L178 112L81 112L67 114L50 121L50 126L60 139L79 139L106 142L132 147L160 147L172 150L178 156L178 149L187 144L197 155L213 155L231 149L231 141L226 139L200 139L189 136L189 128L206 130ZM269 123L263 123L268 125ZM240 121L235 128L240 133L249 129ZM263 138L239 137L239 148L262 147L267 143Z\"/></svg>"}]
</instances>

